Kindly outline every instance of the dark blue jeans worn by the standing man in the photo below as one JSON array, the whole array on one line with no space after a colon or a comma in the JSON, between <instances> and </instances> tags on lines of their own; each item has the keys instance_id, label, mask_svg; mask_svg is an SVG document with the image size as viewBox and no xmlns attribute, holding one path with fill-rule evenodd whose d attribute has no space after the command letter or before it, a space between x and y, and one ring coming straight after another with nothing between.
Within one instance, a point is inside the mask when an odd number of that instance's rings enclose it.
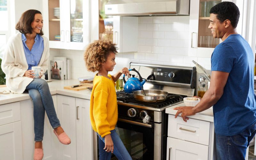
<instances>
[{"instance_id":1,"label":"dark blue jeans worn by the standing man","mask_svg":"<svg viewBox=\"0 0 256 160\"><path fill-rule=\"evenodd\" d=\"M243 160L246 149L256 133L256 123L234 136L215 134L218 160Z\"/></svg>"}]
</instances>

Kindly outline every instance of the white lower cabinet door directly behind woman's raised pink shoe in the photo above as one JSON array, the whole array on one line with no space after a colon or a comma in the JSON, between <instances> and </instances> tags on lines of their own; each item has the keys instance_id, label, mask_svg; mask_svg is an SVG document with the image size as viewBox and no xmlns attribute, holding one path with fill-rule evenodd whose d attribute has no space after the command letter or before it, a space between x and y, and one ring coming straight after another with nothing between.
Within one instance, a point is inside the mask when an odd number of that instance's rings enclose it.
<instances>
[{"instance_id":1,"label":"white lower cabinet door directly behind woman's raised pink shoe","mask_svg":"<svg viewBox=\"0 0 256 160\"><path fill-rule=\"evenodd\" d=\"M71 139L69 145L59 143L58 158L76 159L76 100L74 97L57 95L57 110L60 124Z\"/></svg>"}]
</instances>

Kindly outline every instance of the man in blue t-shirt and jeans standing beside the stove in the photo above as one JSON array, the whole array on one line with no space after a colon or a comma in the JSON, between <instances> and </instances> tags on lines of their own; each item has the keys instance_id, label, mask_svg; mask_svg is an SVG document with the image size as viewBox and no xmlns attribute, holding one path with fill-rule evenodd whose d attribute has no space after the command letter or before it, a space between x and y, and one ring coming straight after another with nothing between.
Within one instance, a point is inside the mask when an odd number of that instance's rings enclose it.
<instances>
[{"instance_id":1,"label":"man in blue t-shirt and jeans standing beside the stove","mask_svg":"<svg viewBox=\"0 0 256 160\"><path fill-rule=\"evenodd\" d=\"M212 53L209 90L195 107L177 107L175 118L187 122L190 115L213 105L217 158L245 159L246 148L256 133L256 96L253 87L254 59L250 45L236 32L239 10L222 2L210 10L214 38L223 41Z\"/></svg>"}]
</instances>

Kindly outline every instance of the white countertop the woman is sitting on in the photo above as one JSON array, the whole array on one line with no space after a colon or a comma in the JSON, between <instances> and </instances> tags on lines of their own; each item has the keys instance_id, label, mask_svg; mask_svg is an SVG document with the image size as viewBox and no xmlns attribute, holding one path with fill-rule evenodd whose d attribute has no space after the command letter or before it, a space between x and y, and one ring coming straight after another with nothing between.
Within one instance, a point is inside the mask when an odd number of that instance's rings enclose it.
<instances>
[{"instance_id":1,"label":"white countertop the woman is sitting on","mask_svg":"<svg viewBox=\"0 0 256 160\"><path fill-rule=\"evenodd\" d=\"M79 84L79 81L76 79L52 80L52 82L48 82L50 92L52 95L61 94L65 96L90 100L91 91L89 91L88 89L82 90L82 91L72 91L72 90L64 89L64 86L75 85L75 84ZM1 87L0 92L2 91L9 91L9 89L7 87ZM28 100L28 99L30 99L28 92L24 92L22 94L14 94L14 93L0 94L0 105L17 102L21 100Z\"/></svg>"}]
</instances>

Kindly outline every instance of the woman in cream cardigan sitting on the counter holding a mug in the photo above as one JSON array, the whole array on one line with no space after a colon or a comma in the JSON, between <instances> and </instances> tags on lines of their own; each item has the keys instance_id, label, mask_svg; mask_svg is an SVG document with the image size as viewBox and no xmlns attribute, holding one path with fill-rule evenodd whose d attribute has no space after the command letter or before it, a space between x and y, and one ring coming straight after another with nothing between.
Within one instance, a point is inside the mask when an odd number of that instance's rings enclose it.
<instances>
[{"instance_id":1,"label":"woman in cream cardigan sitting on the counter holding a mug","mask_svg":"<svg viewBox=\"0 0 256 160\"><path fill-rule=\"evenodd\" d=\"M20 31L11 37L5 49L1 68L6 74L6 85L13 93L23 93L25 90L34 104L34 159L43 159L44 114L54 129L53 132L63 144L71 140L60 126L60 121L54 109L49 86L41 74L38 78L31 70L34 66L41 67L44 73L49 61L49 41L42 32L43 18L40 11L24 12L16 29Z\"/></svg>"}]
</instances>

